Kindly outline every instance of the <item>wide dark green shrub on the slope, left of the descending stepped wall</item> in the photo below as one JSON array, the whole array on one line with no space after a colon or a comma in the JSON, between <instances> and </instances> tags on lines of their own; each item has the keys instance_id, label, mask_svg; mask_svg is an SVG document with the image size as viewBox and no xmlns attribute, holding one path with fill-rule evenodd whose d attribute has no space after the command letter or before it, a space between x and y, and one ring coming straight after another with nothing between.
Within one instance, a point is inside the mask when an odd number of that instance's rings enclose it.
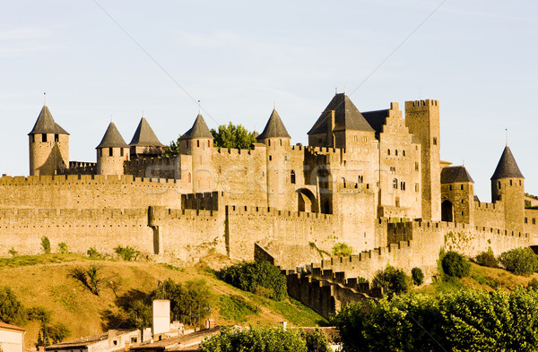
<instances>
[{"instance_id":1,"label":"wide dark green shrub on the slope, left of the descending stepped wall","mask_svg":"<svg viewBox=\"0 0 538 352\"><path fill-rule=\"evenodd\" d=\"M286 277L280 269L267 261L231 265L218 271L217 277L244 291L263 292L276 301L282 301L288 296Z\"/></svg>"}]
</instances>

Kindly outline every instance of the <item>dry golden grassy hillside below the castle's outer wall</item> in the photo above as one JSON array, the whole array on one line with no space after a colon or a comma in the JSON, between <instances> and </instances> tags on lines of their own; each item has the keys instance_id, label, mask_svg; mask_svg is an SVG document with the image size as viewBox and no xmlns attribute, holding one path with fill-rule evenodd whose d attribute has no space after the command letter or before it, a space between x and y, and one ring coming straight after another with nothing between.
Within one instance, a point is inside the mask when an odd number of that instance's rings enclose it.
<instances>
[{"instance_id":1,"label":"dry golden grassy hillside below the castle's outer wall","mask_svg":"<svg viewBox=\"0 0 538 352\"><path fill-rule=\"evenodd\" d=\"M222 258L207 258L217 262ZM74 267L100 266L104 284L100 296L95 296L70 277ZM282 321L298 326L316 326L324 319L294 300L275 302L243 292L216 279L207 267L197 265L178 268L156 262L121 262L90 260L77 254L42 254L0 259L0 286L8 286L19 296L23 305L45 306L53 311L53 321L65 322L72 331L70 338L99 333L104 329L102 313L115 309L117 296L129 290L150 292L159 281L173 279L185 282L204 279L213 288L212 318L216 324L269 325ZM108 282L120 283L113 290ZM115 292L116 291L116 292ZM26 343L33 347L39 323L27 326Z\"/></svg>"}]
</instances>

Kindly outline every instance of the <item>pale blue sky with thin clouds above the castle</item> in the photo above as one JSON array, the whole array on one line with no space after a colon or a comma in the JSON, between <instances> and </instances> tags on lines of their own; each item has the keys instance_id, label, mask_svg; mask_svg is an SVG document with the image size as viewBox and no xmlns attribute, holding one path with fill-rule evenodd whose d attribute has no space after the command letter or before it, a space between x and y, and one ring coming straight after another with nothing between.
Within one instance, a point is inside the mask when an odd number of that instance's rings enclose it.
<instances>
[{"instance_id":1,"label":"pale blue sky with thin clouds above the castle","mask_svg":"<svg viewBox=\"0 0 538 352\"><path fill-rule=\"evenodd\" d=\"M361 111L438 99L441 158L464 162L484 202L508 128L536 194L537 37L528 0L4 2L0 172L28 175L45 91L71 133L70 159L95 161L111 115L126 142L143 114L168 144L190 128L198 99L210 128L258 132L276 102L291 142L307 144L345 87Z\"/></svg>"}]
</instances>

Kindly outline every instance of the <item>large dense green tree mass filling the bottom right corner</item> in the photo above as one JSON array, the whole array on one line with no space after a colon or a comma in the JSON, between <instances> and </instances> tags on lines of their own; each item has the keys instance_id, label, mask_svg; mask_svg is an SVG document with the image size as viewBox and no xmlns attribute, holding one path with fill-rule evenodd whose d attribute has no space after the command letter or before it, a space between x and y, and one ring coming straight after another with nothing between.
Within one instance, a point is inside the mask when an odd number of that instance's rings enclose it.
<instances>
[{"instance_id":1,"label":"large dense green tree mass filling the bottom right corner","mask_svg":"<svg viewBox=\"0 0 538 352\"><path fill-rule=\"evenodd\" d=\"M333 323L345 351L536 351L537 301L526 288L403 295L351 303Z\"/></svg>"}]
</instances>

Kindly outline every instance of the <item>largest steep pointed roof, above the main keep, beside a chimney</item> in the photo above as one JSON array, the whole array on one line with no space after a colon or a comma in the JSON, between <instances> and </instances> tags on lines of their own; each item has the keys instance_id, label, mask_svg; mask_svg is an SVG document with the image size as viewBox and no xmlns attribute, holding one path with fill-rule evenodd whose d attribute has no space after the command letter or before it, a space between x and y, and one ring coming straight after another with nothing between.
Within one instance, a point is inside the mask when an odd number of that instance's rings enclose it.
<instances>
[{"instance_id":1,"label":"largest steep pointed roof, above the main keep, beside a chimney","mask_svg":"<svg viewBox=\"0 0 538 352\"><path fill-rule=\"evenodd\" d=\"M344 93L339 93L334 95L308 134L326 133L327 119L331 110L334 110L334 131L374 131L351 99Z\"/></svg>"}]
</instances>

